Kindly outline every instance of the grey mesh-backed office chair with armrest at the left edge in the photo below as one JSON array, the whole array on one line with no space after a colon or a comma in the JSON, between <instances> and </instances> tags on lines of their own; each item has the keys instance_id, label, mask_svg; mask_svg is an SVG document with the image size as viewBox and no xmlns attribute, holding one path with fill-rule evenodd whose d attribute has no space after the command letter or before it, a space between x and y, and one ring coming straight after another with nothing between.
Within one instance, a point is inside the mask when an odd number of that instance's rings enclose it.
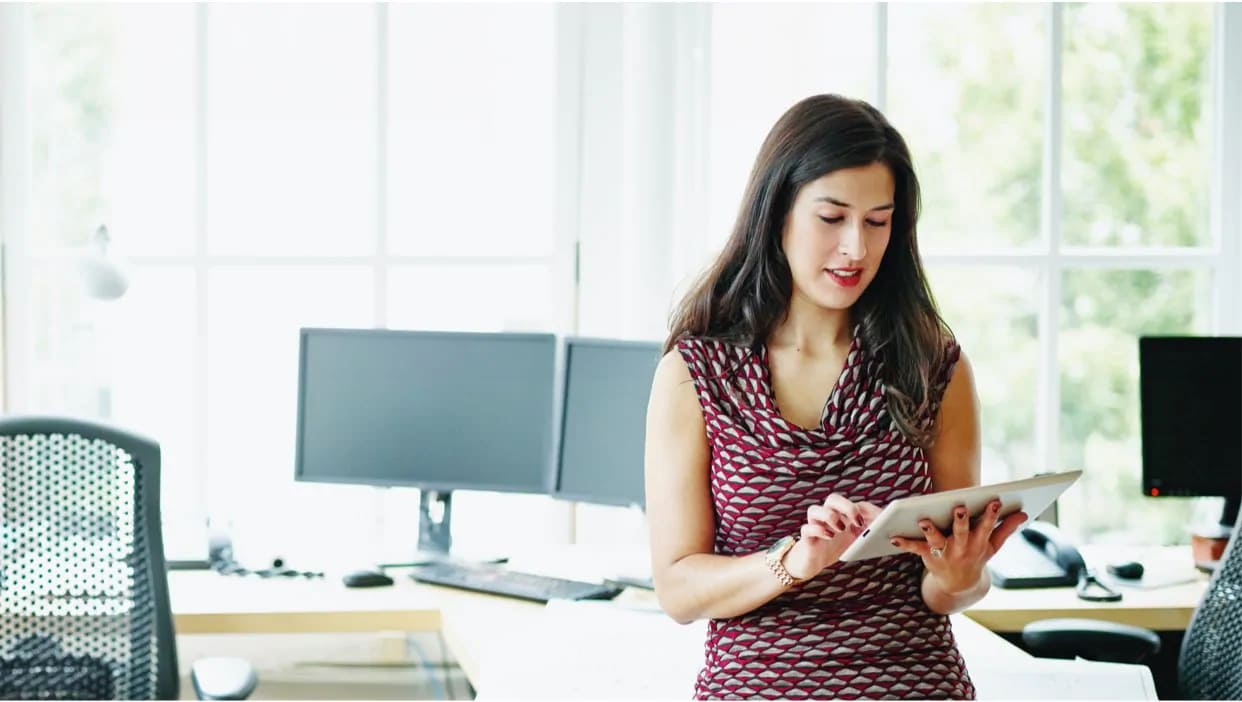
<instances>
[{"instance_id":1,"label":"grey mesh-backed office chair with armrest at the left edge","mask_svg":"<svg viewBox=\"0 0 1242 702\"><path fill-rule=\"evenodd\" d=\"M176 700L159 444L62 417L0 419L0 698ZM209 659L200 700L253 668Z\"/></svg>"}]
</instances>

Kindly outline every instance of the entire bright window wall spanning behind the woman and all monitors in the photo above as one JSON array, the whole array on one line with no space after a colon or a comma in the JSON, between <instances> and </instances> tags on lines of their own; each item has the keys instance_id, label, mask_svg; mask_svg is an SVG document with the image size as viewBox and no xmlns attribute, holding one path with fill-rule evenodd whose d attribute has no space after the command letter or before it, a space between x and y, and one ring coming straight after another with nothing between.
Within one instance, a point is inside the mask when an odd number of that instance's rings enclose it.
<instances>
[{"instance_id":1,"label":"entire bright window wall spanning behind the woman and all monitors","mask_svg":"<svg viewBox=\"0 0 1242 702\"><path fill-rule=\"evenodd\" d=\"M29 93L30 130L29 226L5 232L7 409L159 437L183 550L210 516L309 560L343 522L320 514L374 513L347 539L391 557L412 543L412 491L292 482L297 329L652 335L728 236L773 122L840 92L912 148L934 292L976 369L985 480L1081 468L1071 528L1181 540L1192 504L1138 490L1136 338L1242 332L1226 150L1242 160L1242 138L1221 128L1242 123L1242 96L1222 97L1242 84L1223 58L1242 61L1237 12L5 7L26 51L0 45L0 66L24 65L25 87L0 97ZM132 262L109 303L72 265L99 224ZM569 523L538 497L456 511L474 545L489 514L513 542ZM580 534L609 540L617 518Z\"/></svg>"}]
</instances>

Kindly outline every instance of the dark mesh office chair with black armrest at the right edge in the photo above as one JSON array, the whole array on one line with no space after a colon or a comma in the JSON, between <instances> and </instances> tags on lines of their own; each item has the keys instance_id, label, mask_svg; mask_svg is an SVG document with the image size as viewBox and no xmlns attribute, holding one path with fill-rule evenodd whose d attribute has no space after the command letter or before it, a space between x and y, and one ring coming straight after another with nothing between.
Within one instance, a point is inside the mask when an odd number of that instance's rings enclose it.
<instances>
[{"instance_id":1,"label":"dark mesh office chair with black armrest at the right edge","mask_svg":"<svg viewBox=\"0 0 1242 702\"><path fill-rule=\"evenodd\" d=\"M1242 516L1182 639L1177 687L1182 700L1242 700ZM1090 619L1048 619L1022 630L1036 656L1141 662L1160 650L1151 630Z\"/></svg>"}]
</instances>

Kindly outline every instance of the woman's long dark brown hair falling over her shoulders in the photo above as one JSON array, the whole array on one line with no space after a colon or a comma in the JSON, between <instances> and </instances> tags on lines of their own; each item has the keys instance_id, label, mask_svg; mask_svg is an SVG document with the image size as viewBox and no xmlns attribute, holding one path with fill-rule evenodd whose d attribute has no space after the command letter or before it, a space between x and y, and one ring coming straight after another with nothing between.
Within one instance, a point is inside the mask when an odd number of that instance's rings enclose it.
<instances>
[{"instance_id":1,"label":"woman's long dark brown hair falling over her shoulders","mask_svg":"<svg viewBox=\"0 0 1242 702\"><path fill-rule=\"evenodd\" d=\"M784 319L794 292L781 229L807 183L843 168L882 163L895 183L892 234L874 280L851 309L863 348L883 363L889 416L922 446L934 374L953 335L936 311L919 260L919 183L909 149L874 107L835 94L791 107L764 139L733 234L673 312L664 352L683 338L719 339L758 353Z\"/></svg>"}]
</instances>

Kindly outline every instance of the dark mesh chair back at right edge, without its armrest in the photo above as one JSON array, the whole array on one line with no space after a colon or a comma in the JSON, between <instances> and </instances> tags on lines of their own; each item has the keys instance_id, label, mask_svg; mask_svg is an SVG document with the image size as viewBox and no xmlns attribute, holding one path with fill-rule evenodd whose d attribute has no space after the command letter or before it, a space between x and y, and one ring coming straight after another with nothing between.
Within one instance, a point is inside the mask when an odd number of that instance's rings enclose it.
<instances>
[{"instance_id":1,"label":"dark mesh chair back at right edge, without its armrest","mask_svg":"<svg viewBox=\"0 0 1242 702\"><path fill-rule=\"evenodd\" d=\"M1177 683L1184 700L1242 700L1242 548L1238 531L1207 583L1177 661Z\"/></svg>"}]
</instances>

